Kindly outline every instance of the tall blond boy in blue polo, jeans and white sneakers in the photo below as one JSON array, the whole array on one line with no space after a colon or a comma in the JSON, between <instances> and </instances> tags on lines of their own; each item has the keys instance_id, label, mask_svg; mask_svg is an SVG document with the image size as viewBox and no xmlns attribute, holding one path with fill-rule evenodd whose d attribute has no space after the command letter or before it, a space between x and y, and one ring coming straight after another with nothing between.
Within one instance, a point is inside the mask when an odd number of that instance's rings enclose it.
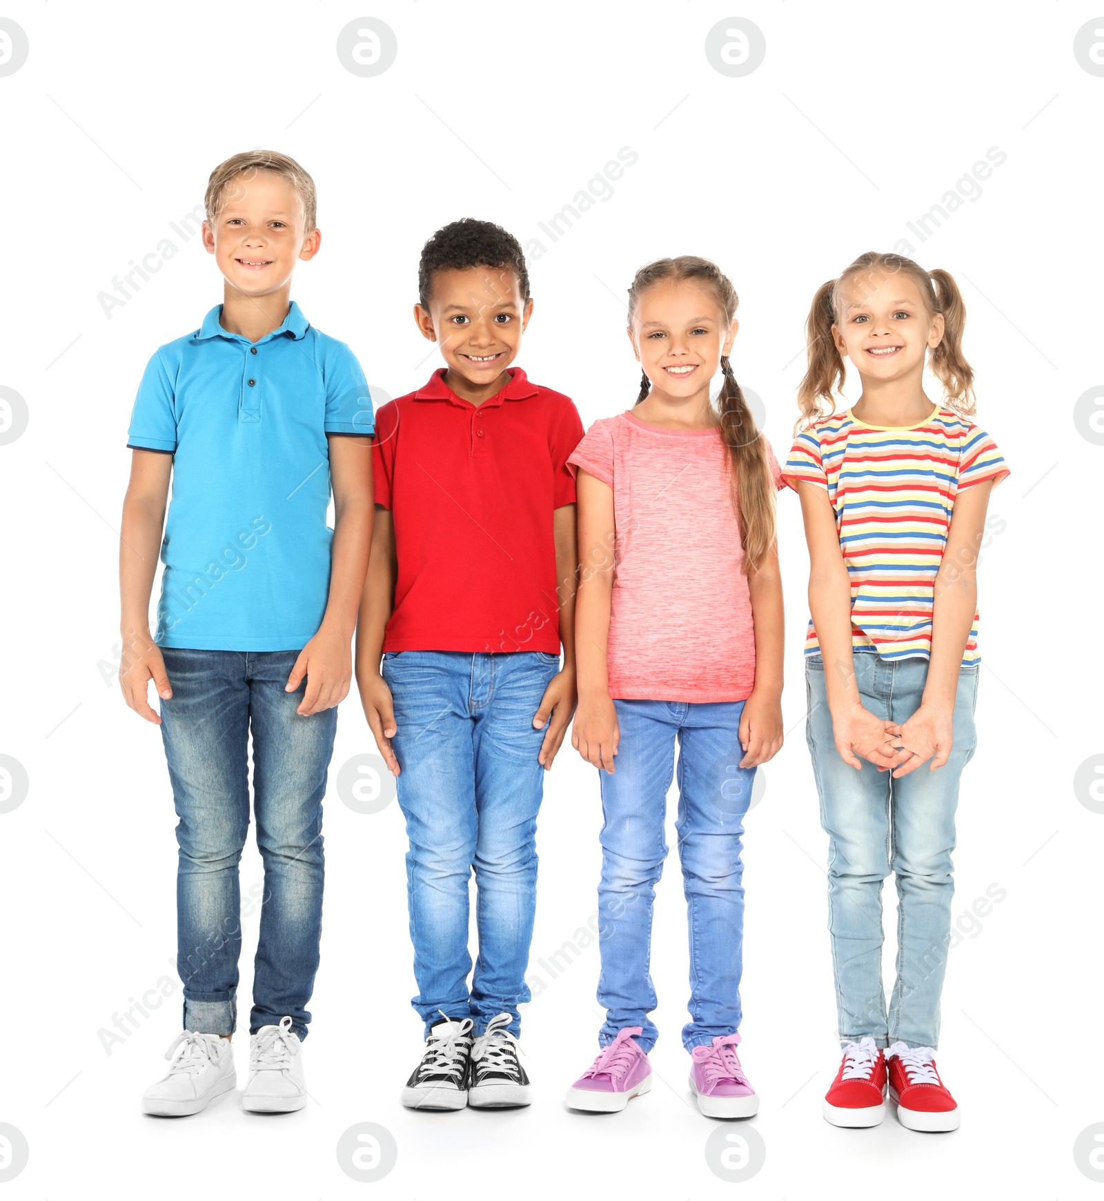
<instances>
[{"instance_id":1,"label":"tall blond boy in blue polo, jeans and white sneakers","mask_svg":"<svg viewBox=\"0 0 1104 1201\"><path fill-rule=\"evenodd\" d=\"M364 375L352 351L291 300L296 264L321 243L310 175L271 151L228 159L210 177L203 241L223 300L195 333L162 346L142 378L120 546L120 683L127 704L161 725L179 815L184 1030L167 1075L143 1098L147 1113L163 1116L196 1113L237 1083L250 737L264 895L244 1105L306 1104L322 796L374 514ZM159 551L165 574L150 637Z\"/></svg>"}]
</instances>

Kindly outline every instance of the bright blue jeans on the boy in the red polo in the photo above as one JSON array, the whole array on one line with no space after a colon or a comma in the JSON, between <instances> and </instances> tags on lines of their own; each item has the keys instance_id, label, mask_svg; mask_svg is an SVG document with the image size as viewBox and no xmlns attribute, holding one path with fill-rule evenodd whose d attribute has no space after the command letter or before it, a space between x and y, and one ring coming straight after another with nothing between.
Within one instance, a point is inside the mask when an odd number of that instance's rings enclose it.
<instances>
[{"instance_id":1,"label":"bright blue jeans on the boy in the red polo","mask_svg":"<svg viewBox=\"0 0 1104 1201\"><path fill-rule=\"evenodd\" d=\"M395 705L392 745L406 818L410 937L426 1032L444 1014L476 1033L499 1014L520 1032L537 900L537 811L544 730L533 717L556 656L400 651L383 657ZM479 954L467 950L467 882L476 873Z\"/></svg>"}]
</instances>

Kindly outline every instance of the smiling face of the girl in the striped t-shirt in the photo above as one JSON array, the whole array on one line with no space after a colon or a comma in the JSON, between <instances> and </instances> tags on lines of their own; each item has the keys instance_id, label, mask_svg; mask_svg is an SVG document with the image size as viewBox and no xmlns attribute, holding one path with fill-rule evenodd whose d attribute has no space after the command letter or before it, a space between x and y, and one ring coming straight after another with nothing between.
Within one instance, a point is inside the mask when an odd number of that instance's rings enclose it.
<instances>
[{"instance_id":1,"label":"smiling face of the girl in the striped t-shirt","mask_svg":"<svg viewBox=\"0 0 1104 1201\"><path fill-rule=\"evenodd\" d=\"M860 376L883 383L924 371L929 347L939 345L943 315L930 313L915 280L905 271L853 275L840 285L836 349Z\"/></svg>"}]
</instances>

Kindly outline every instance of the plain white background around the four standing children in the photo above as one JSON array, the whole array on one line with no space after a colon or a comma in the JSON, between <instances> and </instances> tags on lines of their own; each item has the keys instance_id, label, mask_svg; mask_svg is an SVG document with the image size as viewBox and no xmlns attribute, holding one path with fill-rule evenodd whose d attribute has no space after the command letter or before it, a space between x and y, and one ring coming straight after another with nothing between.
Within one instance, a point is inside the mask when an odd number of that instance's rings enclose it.
<instances>
[{"instance_id":1,"label":"plain white background around the four standing children","mask_svg":"<svg viewBox=\"0 0 1104 1201\"><path fill-rule=\"evenodd\" d=\"M335 53L339 31L365 14L398 38L396 61L376 78ZM30 43L26 64L0 78L0 384L30 411L26 432L0 446L0 752L30 778L26 800L0 814L0 1122L30 1145L4 1197L1097 1195L1073 1143L1104 1121L1104 815L1079 803L1073 777L1104 751L1104 448L1081 436L1074 404L1104 374L1104 78L1081 68L1073 42L1098 14L1067 0L4 6ZM732 16L766 40L764 62L742 78L704 53L706 32ZM312 1103L265 1119L231 1095L184 1121L142 1117L139 1097L179 1022L175 841L159 731L103 675L118 640L125 435L153 349L221 299L198 237L181 241L168 222L202 201L219 161L251 147L284 150L314 174L322 250L300 265L293 295L392 396L437 365L411 319L423 241L465 215L539 237L537 222L622 147L639 161L613 197L557 243L542 237L547 253L531 259L536 311L519 363L573 396L586 424L635 395L621 297L652 257L706 255L730 274L741 297L734 366L763 398L780 458L816 287L902 237L925 267L957 276L978 420L1013 468L993 494L999 522L979 573L979 749L959 811L955 918L992 884L1007 897L979 930L963 919L973 937L950 956L939 1066L962 1107L960 1131L917 1135L893 1115L846 1131L820 1117L839 1052L825 838L804 741L807 560L789 492L780 497L789 733L747 819L745 853L742 1054L766 1146L753 1179L710 1171L716 1123L686 1087L674 860L656 904L662 1082L650 1097L608 1118L563 1107L595 1053L591 945L555 980L537 968L548 987L524 1018L531 1109L399 1106L420 1048L405 837L394 803L363 815L334 790L336 769L370 746L356 695L342 705L326 809L323 962L305 1046ZM923 244L911 235L906 222L991 147L1007 161L981 195ZM179 253L108 318L97 294L166 235ZM598 825L595 772L566 746L541 817L535 960L596 908ZM243 891L257 880L251 841ZM888 955L891 894L890 883ZM243 1011L255 938L256 915L245 921ZM108 1054L97 1032L162 976L172 999ZM244 1080L245 1040L235 1046ZM335 1157L342 1131L365 1121L399 1148L376 1184L350 1179Z\"/></svg>"}]
</instances>

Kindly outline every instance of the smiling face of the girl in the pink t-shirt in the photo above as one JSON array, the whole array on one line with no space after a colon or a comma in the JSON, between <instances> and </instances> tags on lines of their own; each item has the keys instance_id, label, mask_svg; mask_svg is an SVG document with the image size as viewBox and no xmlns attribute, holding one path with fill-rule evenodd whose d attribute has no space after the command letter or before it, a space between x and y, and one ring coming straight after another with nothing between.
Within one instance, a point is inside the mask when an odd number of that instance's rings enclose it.
<instances>
[{"instance_id":1,"label":"smiling face of the girl in the pink t-shirt","mask_svg":"<svg viewBox=\"0 0 1104 1201\"><path fill-rule=\"evenodd\" d=\"M709 388L738 328L736 321L724 319L709 288L692 280L662 280L637 301L628 336L652 387L688 399Z\"/></svg>"}]
</instances>

